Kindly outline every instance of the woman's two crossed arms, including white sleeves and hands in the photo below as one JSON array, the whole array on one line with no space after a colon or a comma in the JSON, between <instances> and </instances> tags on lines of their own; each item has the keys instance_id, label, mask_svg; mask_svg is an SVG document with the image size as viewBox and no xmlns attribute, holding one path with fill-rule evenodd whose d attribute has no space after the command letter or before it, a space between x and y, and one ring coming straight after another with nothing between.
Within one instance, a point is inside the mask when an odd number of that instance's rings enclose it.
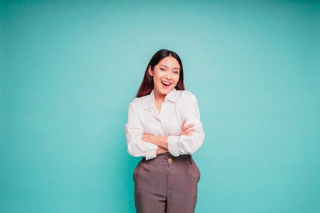
<instances>
[{"instance_id":1,"label":"woman's two crossed arms, including white sleeves and hands","mask_svg":"<svg viewBox=\"0 0 320 213\"><path fill-rule=\"evenodd\" d=\"M204 133L200 122L197 100L190 96L181 109L182 131L180 135L145 134L140 123L138 100L129 106L128 124L125 125L128 153L132 156L144 156L146 159L170 152L173 156L193 154L202 145Z\"/></svg>"}]
</instances>

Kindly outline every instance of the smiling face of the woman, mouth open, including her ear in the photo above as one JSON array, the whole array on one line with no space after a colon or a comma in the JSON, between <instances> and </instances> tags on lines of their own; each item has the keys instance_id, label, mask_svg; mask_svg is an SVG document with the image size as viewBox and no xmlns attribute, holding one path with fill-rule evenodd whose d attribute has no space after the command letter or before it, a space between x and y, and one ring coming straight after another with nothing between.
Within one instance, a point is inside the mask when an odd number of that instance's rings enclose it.
<instances>
[{"instance_id":1,"label":"smiling face of the woman, mouth open, including her ear","mask_svg":"<svg viewBox=\"0 0 320 213\"><path fill-rule=\"evenodd\" d=\"M179 81L179 62L172 56L163 58L153 70L149 67L149 75L153 76L155 96L166 96Z\"/></svg>"}]
</instances>

